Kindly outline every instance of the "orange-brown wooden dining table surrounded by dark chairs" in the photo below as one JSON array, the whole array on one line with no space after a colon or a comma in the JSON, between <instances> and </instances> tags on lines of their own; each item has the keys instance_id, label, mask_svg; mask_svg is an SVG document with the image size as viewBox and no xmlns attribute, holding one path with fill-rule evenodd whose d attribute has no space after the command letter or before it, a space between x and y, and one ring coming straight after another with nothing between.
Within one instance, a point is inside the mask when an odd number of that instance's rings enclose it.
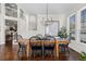
<instances>
[{"instance_id":1,"label":"orange-brown wooden dining table surrounded by dark chairs","mask_svg":"<svg viewBox=\"0 0 86 64\"><path fill-rule=\"evenodd\" d=\"M26 44L26 54L27 56L30 56L30 46L29 46L29 39L20 39L19 42L24 42ZM48 40L38 40L38 41L35 41L35 42L41 42L42 46L44 46L44 42L48 42ZM59 56L59 44L60 43L69 43L69 41L65 39L65 40L56 40L56 41L51 41L51 42L56 42L56 56L58 57ZM44 47L42 47L42 50L44 50ZM44 57L44 56L42 56Z\"/></svg>"}]
</instances>

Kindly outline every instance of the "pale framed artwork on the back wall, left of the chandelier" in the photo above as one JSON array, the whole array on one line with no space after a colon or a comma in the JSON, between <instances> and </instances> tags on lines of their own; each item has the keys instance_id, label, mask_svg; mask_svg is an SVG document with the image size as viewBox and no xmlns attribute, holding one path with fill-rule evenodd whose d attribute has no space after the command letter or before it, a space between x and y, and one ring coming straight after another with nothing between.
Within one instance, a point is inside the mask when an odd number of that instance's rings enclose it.
<instances>
[{"instance_id":1,"label":"pale framed artwork on the back wall, left of the chandelier","mask_svg":"<svg viewBox=\"0 0 86 64\"><path fill-rule=\"evenodd\" d=\"M28 29L29 30L37 30L37 18L36 18L36 15L30 15L29 16Z\"/></svg>"}]
</instances>

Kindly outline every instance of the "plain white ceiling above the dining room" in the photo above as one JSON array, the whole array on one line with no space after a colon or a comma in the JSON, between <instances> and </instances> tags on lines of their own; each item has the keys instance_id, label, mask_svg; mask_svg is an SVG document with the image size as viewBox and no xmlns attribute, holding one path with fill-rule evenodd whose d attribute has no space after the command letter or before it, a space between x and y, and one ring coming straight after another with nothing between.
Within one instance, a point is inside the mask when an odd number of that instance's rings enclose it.
<instances>
[{"instance_id":1,"label":"plain white ceiling above the dining room","mask_svg":"<svg viewBox=\"0 0 86 64\"><path fill-rule=\"evenodd\" d=\"M48 14L67 13L75 8L79 8L84 3L48 3ZM19 7L24 9L28 14L46 14L46 3L19 3Z\"/></svg>"}]
</instances>

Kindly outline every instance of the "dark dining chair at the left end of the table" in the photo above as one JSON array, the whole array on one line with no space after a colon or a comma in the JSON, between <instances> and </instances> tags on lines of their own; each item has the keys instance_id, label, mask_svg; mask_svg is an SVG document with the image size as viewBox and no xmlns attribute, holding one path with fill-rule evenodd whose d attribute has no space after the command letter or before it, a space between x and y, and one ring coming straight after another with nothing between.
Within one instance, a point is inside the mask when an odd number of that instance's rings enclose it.
<instances>
[{"instance_id":1,"label":"dark dining chair at the left end of the table","mask_svg":"<svg viewBox=\"0 0 86 64\"><path fill-rule=\"evenodd\" d=\"M17 35L17 42L19 42L19 51L17 56L26 55L26 44L24 44L23 37L21 35Z\"/></svg>"}]
</instances>

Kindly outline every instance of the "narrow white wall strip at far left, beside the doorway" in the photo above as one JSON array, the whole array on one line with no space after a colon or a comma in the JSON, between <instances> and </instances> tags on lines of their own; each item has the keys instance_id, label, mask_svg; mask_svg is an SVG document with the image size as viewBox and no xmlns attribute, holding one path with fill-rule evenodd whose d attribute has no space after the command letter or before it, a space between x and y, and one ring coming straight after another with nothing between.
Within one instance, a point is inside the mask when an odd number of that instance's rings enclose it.
<instances>
[{"instance_id":1,"label":"narrow white wall strip at far left, beside the doorway","mask_svg":"<svg viewBox=\"0 0 86 64\"><path fill-rule=\"evenodd\" d=\"M4 35L4 4L1 4L1 14L0 14L0 44L5 42L5 35Z\"/></svg>"}]
</instances>

